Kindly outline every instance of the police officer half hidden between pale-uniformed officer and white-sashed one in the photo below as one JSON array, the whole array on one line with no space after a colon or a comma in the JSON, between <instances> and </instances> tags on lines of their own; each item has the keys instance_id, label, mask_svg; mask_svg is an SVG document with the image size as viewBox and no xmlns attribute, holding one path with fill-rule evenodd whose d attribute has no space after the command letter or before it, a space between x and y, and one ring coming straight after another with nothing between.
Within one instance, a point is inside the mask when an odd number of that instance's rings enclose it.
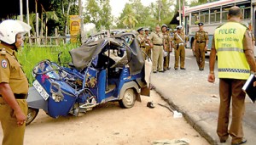
<instances>
[{"instance_id":1,"label":"police officer half hidden between pale-uniformed officer and white-sashed one","mask_svg":"<svg viewBox=\"0 0 256 145\"><path fill-rule=\"evenodd\" d=\"M169 35L167 28L168 28L167 25L162 25L162 27L161 27L161 31L163 33L164 43L165 43L164 51L166 53L166 56L164 56L164 70L165 71L170 69L170 66L169 66L170 53L172 53L171 36Z\"/></svg>"}]
</instances>

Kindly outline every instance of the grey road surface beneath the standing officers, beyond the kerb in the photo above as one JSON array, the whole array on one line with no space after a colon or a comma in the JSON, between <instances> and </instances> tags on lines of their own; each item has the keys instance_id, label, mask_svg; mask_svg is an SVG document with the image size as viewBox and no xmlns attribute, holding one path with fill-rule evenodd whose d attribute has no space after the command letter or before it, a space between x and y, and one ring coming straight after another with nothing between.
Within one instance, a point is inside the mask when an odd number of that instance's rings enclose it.
<instances>
[{"instance_id":1,"label":"grey road surface beneath the standing officers, beyond the kerb","mask_svg":"<svg viewBox=\"0 0 256 145\"><path fill-rule=\"evenodd\" d=\"M185 67L187 70L173 69L174 56L171 54L171 70L152 75L152 84L156 91L173 106L182 112L195 130L211 144L219 144L216 135L218 120L218 75L215 83L209 83L209 59L206 59L204 71L199 71L191 49L186 49ZM217 62L215 64L217 73ZM256 138L256 106L246 98L246 112L243 128L247 144L254 145ZM231 114L230 114L231 119ZM230 144L230 140L226 142Z\"/></svg>"}]
</instances>

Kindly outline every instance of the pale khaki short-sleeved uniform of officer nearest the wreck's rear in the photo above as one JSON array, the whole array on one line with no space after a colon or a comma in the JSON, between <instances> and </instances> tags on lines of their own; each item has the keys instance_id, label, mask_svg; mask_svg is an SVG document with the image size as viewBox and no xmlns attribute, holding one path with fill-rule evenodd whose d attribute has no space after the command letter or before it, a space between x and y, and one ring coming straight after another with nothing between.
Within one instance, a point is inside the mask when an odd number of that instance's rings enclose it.
<instances>
[{"instance_id":1,"label":"pale khaki short-sleeved uniform of officer nearest the wreck's rear","mask_svg":"<svg viewBox=\"0 0 256 145\"><path fill-rule=\"evenodd\" d=\"M162 33L152 32L148 39L153 43L152 59L153 59L153 72L164 71L163 70L163 39Z\"/></svg>"}]
</instances>

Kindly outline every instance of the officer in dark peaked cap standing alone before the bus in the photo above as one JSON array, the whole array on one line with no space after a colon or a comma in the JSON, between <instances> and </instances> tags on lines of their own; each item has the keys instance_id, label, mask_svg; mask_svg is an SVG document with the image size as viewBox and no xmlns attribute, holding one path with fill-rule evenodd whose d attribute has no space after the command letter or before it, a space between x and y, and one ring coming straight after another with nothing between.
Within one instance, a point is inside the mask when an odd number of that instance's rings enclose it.
<instances>
[{"instance_id":1,"label":"officer in dark peaked cap standing alone before the bus","mask_svg":"<svg viewBox=\"0 0 256 145\"><path fill-rule=\"evenodd\" d=\"M196 63L199 70L205 68L205 52L208 47L208 32L203 30L203 23L198 23L199 31L195 32L195 41L193 42L193 51L195 52Z\"/></svg>"}]
</instances>

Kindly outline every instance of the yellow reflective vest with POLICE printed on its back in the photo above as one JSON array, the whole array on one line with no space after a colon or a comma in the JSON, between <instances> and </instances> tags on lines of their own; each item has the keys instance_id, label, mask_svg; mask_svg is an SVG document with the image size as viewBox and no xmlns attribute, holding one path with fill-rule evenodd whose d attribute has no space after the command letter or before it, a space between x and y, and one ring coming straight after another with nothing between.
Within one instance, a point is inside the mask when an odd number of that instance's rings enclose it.
<instances>
[{"instance_id":1,"label":"yellow reflective vest with POLICE printed on its back","mask_svg":"<svg viewBox=\"0 0 256 145\"><path fill-rule=\"evenodd\" d=\"M243 49L243 37L247 27L228 22L214 31L215 48L218 53L218 77L247 80L250 67Z\"/></svg>"}]
</instances>

